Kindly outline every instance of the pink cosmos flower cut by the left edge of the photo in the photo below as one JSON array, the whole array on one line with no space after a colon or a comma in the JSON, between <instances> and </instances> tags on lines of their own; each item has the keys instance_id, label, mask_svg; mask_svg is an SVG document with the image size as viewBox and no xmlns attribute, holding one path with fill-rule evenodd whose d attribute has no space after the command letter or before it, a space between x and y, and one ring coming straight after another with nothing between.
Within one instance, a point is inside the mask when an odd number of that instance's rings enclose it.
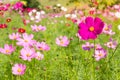
<instances>
[{"instance_id":1,"label":"pink cosmos flower cut by the left edge of the photo","mask_svg":"<svg viewBox=\"0 0 120 80\"><path fill-rule=\"evenodd\" d=\"M12 52L15 51L15 47L12 45L5 44L4 48L0 48L0 52L3 54L11 54Z\"/></svg>"}]
</instances>

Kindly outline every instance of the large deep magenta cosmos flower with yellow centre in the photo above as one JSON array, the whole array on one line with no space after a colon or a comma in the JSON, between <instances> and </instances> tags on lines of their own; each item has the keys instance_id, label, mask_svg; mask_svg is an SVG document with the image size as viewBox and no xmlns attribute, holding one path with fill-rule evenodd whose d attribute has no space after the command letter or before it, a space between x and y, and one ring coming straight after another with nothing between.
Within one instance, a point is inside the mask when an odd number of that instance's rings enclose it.
<instances>
[{"instance_id":1,"label":"large deep magenta cosmos flower with yellow centre","mask_svg":"<svg viewBox=\"0 0 120 80\"><path fill-rule=\"evenodd\" d=\"M99 35L104 27L103 21L96 17L95 19L92 17L87 17L85 19L85 23L81 22L79 24L78 33L83 40L88 39L96 39L97 35Z\"/></svg>"}]
</instances>

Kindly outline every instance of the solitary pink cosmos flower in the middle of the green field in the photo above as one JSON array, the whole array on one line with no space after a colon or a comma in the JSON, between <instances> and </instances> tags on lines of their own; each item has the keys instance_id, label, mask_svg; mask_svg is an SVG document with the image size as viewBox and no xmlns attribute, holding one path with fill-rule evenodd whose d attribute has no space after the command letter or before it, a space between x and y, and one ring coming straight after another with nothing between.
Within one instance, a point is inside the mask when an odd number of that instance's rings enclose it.
<instances>
[{"instance_id":1,"label":"solitary pink cosmos flower in the middle of the green field","mask_svg":"<svg viewBox=\"0 0 120 80\"><path fill-rule=\"evenodd\" d=\"M59 46L67 47L70 40L66 36L60 36L56 38L56 44Z\"/></svg>"}]
</instances>

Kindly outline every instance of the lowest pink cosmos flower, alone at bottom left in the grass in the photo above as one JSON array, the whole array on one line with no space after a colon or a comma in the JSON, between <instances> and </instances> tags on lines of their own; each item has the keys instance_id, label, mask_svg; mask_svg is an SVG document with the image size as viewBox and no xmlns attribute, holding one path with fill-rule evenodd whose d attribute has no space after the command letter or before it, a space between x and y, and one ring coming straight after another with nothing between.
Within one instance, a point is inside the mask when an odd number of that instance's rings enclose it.
<instances>
[{"instance_id":1,"label":"lowest pink cosmos flower, alone at bottom left in the grass","mask_svg":"<svg viewBox=\"0 0 120 80\"><path fill-rule=\"evenodd\" d=\"M12 73L14 75L23 75L25 73L26 70L26 66L23 64L15 64L12 67Z\"/></svg>"}]
</instances>

